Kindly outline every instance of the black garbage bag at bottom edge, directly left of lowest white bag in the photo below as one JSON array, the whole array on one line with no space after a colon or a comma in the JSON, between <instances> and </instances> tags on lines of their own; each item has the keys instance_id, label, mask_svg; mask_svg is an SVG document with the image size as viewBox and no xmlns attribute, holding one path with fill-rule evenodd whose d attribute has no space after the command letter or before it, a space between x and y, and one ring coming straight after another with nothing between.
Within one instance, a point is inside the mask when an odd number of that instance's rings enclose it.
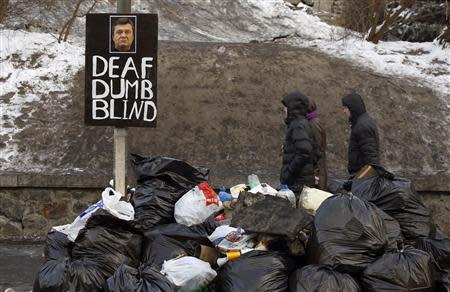
<instances>
[{"instance_id":1,"label":"black garbage bag at bottom edge, directly left of lowest white bag","mask_svg":"<svg viewBox=\"0 0 450 292\"><path fill-rule=\"evenodd\" d=\"M141 265L138 269L122 265L107 280L106 292L172 292L173 284L158 269Z\"/></svg>"}]
</instances>

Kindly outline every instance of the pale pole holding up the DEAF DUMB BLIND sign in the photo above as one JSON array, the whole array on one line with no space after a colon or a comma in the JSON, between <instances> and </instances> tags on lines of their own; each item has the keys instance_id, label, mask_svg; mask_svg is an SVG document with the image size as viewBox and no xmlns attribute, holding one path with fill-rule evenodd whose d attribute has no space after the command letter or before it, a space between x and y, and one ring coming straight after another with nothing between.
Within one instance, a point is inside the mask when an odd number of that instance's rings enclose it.
<instances>
[{"instance_id":1,"label":"pale pole holding up the DEAF DUMB BLIND sign","mask_svg":"<svg viewBox=\"0 0 450 292\"><path fill-rule=\"evenodd\" d=\"M130 13L131 0L118 0L117 13ZM126 195L127 128L114 127L114 188Z\"/></svg>"}]
</instances>

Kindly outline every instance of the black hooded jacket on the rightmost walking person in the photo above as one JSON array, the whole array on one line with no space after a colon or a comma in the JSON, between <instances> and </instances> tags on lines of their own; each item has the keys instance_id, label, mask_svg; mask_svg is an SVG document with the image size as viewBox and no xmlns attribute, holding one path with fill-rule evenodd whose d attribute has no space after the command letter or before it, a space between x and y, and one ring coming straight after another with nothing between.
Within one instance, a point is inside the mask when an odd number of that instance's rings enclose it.
<instances>
[{"instance_id":1,"label":"black hooded jacket on the rightmost walking person","mask_svg":"<svg viewBox=\"0 0 450 292\"><path fill-rule=\"evenodd\" d=\"M358 172L366 164L380 163L378 127L367 114L364 101L358 94L342 98L342 105L350 110L352 132L348 145L348 172Z\"/></svg>"}]
</instances>

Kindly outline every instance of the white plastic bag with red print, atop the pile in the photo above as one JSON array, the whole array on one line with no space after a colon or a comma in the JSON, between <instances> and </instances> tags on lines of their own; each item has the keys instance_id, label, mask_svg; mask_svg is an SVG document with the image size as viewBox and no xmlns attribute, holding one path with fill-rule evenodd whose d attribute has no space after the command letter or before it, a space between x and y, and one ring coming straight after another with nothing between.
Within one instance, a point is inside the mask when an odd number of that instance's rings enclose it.
<instances>
[{"instance_id":1,"label":"white plastic bag with red print, atop the pile","mask_svg":"<svg viewBox=\"0 0 450 292\"><path fill-rule=\"evenodd\" d=\"M175 203L175 221L187 226L200 224L211 214L221 210L222 202L214 190L203 182L184 194Z\"/></svg>"}]
</instances>

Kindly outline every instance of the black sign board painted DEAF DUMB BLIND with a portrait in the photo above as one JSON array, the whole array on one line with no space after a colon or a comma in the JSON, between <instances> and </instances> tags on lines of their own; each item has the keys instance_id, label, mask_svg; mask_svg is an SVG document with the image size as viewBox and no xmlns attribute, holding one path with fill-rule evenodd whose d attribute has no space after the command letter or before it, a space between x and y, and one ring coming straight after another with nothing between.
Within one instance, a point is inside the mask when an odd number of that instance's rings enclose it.
<instances>
[{"instance_id":1,"label":"black sign board painted DEAF DUMB BLIND with a portrait","mask_svg":"<svg viewBox=\"0 0 450 292\"><path fill-rule=\"evenodd\" d=\"M86 124L156 127L157 54L157 14L88 14Z\"/></svg>"}]
</instances>

